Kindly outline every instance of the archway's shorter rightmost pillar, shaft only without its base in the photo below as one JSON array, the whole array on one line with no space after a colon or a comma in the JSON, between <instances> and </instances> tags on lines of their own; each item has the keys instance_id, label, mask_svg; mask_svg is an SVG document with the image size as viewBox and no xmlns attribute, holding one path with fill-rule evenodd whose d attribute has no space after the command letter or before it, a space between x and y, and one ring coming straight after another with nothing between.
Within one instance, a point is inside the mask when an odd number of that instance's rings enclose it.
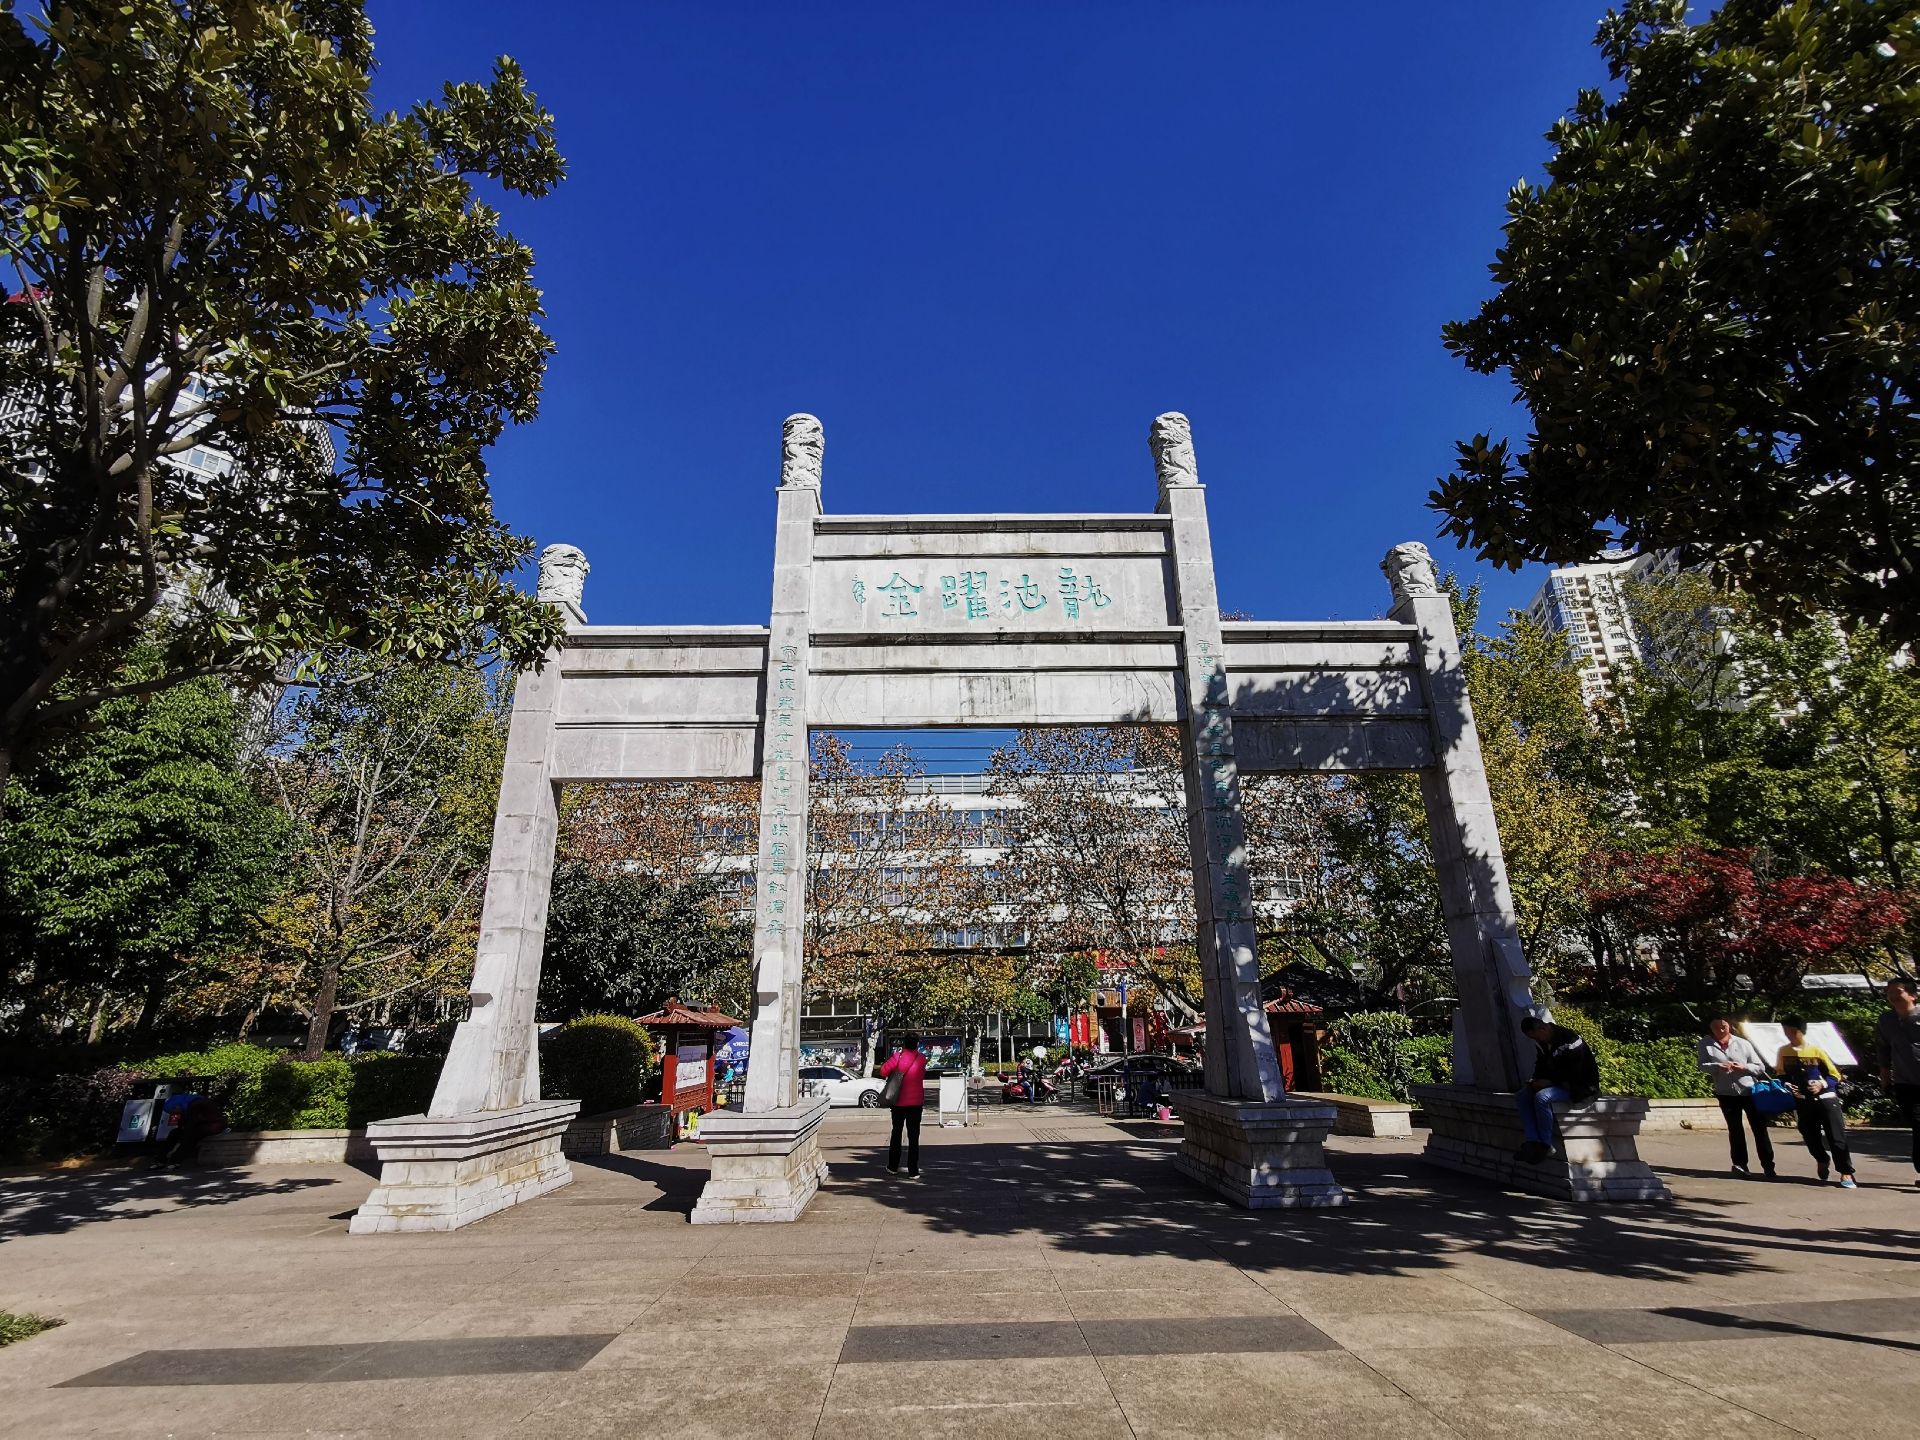
<instances>
[{"instance_id":1,"label":"archway's shorter rightmost pillar, shaft only without its base","mask_svg":"<svg viewBox=\"0 0 1920 1440\"><path fill-rule=\"evenodd\" d=\"M1380 568L1394 591L1390 618L1419 632L1421 697L1434 751L1434 766L1421 772L1421 797L1448 948L1453 952L1459 1033L1465 1041L1459 1060L1467 1062L1461 1069L1471 1069L1480 1089L1511 1091L1532 1073L1521 1058L1530 1043L1519 1031L1521 1016L1532 1004L1532 975L1521 950L1507 862L1500 852L1480 732L1473 724L1459 634L1453 630L1453 603L1440 589L1425 545L1396 545Z\"/></svg>"}]
</instances>

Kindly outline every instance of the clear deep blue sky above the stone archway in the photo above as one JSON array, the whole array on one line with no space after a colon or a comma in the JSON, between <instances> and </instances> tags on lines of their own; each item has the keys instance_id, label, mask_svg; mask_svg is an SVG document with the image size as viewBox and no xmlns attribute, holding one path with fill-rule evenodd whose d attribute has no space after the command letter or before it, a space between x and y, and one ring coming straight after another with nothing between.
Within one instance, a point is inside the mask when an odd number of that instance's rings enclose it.
<instances>
[{"instance_id":1,"label":"clear deep blue sky above the stone archway","mask_svg":"<svg viewBox=\"0 0 1920 1440\"><path fill-rule=\"evenodd\" d=\"M837 513L1152 509L1183 409L1260 618L1379 614L1402 540L1476 572L1427 492L1524 413L1440 324L1601 0L371 10L382 104L511 54L557 115L568 180L507 213L559 353L493 474L595 622L764 622L799 409Z\"/></svg>"}]
</instances>

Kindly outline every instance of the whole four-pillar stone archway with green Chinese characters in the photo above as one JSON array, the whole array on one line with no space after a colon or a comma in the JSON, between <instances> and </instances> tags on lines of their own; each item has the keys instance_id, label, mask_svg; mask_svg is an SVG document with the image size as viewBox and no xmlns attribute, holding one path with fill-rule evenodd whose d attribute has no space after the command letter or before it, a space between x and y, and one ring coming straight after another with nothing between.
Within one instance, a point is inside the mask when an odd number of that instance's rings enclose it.
<instances>
[{"instance_id":1,"label":"whole four-pillar stone archway with green Chinese characters","mask_svg":"<svg viewBox=\"0 0 1920 1440\"><path fill-rule=\"evenodd\" d=\"M828 515L824 434L795 415L766 626L589 626L586 557L547 547L540 597L570 624L515 693L470 1018L428 1112L369 1129L384 1173L351 1229L455 1229L570 1179L561 1135L576 1102L540 1098L534 1043L557 795L628 780L760 780L747 1094L701 1127L712 1175L693 1219L799 1217L826 1177L826 1100L803 1100L797 1081L810 728L1181 728L1208 1048L1206 1092L1181 1102L1179 1165L1256 1208L1346 1192L1323 1152L1334 1112L1284 1092L1261 1010L1240 776L1419 774L1469 1081L1423 1096L1428 1158L1549 1194L1665 1194L1634 1158L1644 1102L1569 1121L1567 1164L1511 1160L1528 968L1425 545L1386 557L1386 620L1223 622L1187 417L1156 419L1150 445L1152 513Z\"/></svg>"}]
</instances>

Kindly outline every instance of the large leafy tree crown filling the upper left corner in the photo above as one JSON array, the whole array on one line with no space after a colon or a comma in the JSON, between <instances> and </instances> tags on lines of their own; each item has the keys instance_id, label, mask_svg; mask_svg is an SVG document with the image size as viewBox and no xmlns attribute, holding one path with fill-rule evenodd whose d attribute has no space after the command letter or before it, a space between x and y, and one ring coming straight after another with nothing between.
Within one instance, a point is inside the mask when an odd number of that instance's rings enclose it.
<instances>
[{"instance_id":1,"label":"large leafy tree crown filling the upper left corner","mask_svg":"<svg viewBox=\"0 0 1920 1440\"><path fill-rule=\"evenodd\" d=\"M553 348L474 190L561 179L518 65L378 113L361 0L25 10L0 8L0 797L52 730L184 678L543 655L561 622L505 578L528 543L486 467Z\"/></svg>"}]
</instances>

